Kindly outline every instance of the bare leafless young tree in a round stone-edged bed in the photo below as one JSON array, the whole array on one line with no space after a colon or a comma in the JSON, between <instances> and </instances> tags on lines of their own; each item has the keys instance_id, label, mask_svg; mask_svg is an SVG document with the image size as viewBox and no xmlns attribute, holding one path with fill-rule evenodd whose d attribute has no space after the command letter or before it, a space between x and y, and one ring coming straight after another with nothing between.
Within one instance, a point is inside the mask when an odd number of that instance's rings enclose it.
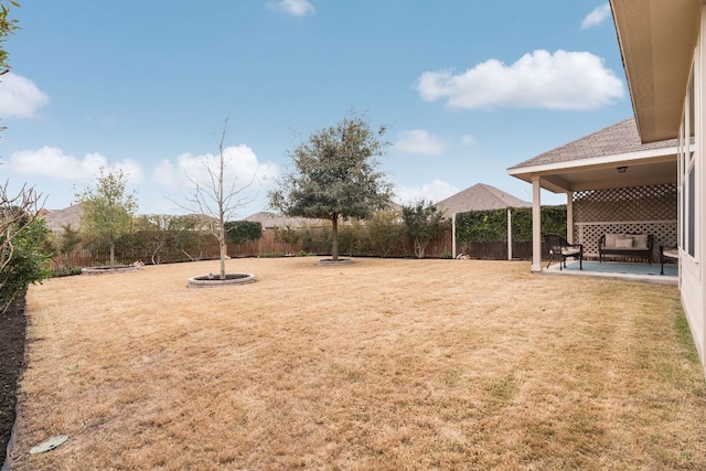
<instances>
[{"instance_id":1,"label":"bare leafless young tree in a round stone-edged bed","mask_svg":"<svg viewBox=\"0 0 706 471\"><path fill-rule=\"evenodd\" d=\"M202 159L205 170L204 179L188 175L193 185L193 193L185 204L176 203L182 210L207 216L208 232L218 240L221 247L221 279L225 279L225 259L227 251L226 221L235 218L237 210L252 203L247 190L253 185L256 174L249 182L238 185L238 178L226 182L226 170L233 163L233 159L226 157L225 139L227 136L228 118L223 122L221 135L214 133L214 140L218 147L218 158L215 162L207 157Z\"/></svg>"}]
</instances>

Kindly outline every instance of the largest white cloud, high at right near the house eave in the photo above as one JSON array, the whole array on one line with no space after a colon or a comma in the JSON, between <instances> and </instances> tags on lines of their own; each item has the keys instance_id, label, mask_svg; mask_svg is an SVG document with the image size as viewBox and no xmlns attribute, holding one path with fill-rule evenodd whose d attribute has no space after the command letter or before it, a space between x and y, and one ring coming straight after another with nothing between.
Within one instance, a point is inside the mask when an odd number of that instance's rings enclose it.
<instances>
[{"instance_id":1,"label":"largest white cloud, high at right near the house eave","mask_svg":"<svg viewBox=\"0 0 706 471\"><path fill-rule=\"evenodd\" d=\"M598 109L623 98L622 82L589 52L535 51L512 65L498 60L461 74L425 72L422 99L446 99L450 108Z\"/></svg>"}]
</instances>

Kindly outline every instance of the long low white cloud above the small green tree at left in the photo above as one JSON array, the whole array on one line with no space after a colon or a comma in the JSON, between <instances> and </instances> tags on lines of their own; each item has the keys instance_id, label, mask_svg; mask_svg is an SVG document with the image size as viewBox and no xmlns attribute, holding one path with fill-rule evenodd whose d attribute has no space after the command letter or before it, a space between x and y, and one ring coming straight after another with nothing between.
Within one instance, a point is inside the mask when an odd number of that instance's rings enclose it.
<instances>
[{"instance_id":1,"label":"long low white cloud above the small green tree at left","mask_svg":"<svg viewBox=\"0 0 706 471\"><path fill-rule=\"evenodd\" d=\"M99 153L87 153L83 159L78 159L64 153L60 148L49 146L38 150L14 152L10 157L9 167L19 175L71 182L90 181L95 179L101 167L122 170L130 184L139 184L143 176L142 168L135 160L125 159L110 163Z\"/></svg>"}]
</instances>

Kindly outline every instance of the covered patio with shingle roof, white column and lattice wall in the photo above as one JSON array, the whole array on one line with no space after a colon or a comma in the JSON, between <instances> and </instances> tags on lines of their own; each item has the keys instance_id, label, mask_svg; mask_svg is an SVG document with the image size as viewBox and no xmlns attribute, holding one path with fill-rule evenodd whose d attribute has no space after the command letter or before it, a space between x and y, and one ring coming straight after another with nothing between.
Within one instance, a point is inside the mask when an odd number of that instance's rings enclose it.
<instances>
[{"instance_id":1,"label":"covered patio with shingle roof, white column and lattice wall","mask_svg":"<svg viewBox=\"0 0 706 471\"><path fill-rule=\"evenodd\" d=\"M676 146L676 140L642 143L630 118L507 169L510 175L533 186L532 270L552 270L542 266L541 190L547 190L566 194L566 238L584 245L585 259L598 259L603 234L652 234L652 265L659 275L659 247L677 240ZM609 260L603 264L633 265L620 257ZM591 267L585 261L582 271L621 275L614 267L601 271Z\"/></svg>"}]
</instances>

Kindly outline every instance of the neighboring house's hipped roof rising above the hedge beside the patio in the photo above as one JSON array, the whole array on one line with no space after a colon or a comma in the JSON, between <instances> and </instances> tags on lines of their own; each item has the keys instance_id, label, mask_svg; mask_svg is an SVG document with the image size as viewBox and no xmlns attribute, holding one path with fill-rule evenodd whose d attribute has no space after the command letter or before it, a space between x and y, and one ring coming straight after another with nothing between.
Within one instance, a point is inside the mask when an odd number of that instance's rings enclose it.
<instances>
[{"instance_id":1,"label":"neighboring house's hipped roof rising above the hedge beside the patio","mask_svg":"<svg viewBox=\"0 0 706 471\"><path fill-rule=\"evenodd\" d=\"M447 215L469 211L492 211L507 207L532 207L532 203L522 201L495 186L478 183L452 196L436 203Z\"/></svg>"}]
</instances>

